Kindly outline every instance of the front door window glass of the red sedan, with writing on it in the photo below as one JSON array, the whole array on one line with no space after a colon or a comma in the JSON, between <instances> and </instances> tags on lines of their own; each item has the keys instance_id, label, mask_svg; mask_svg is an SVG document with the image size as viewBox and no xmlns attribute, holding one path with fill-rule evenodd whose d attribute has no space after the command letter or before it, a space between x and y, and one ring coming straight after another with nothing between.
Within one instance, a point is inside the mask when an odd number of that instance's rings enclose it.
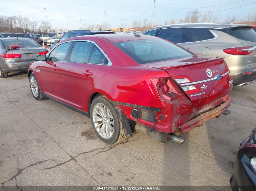
<instances>
[{"instance_id":1,"label":"front door window glass of the red sedan, with writing on it","mask_svg":"<svg viewBox=\"0 0 256 191\"><path fill-rule=\"evenodd\" d=\"M48 61L64 61L71 42L63 43L52 50L48 57Z\"/></svg>"}]
</instances>

